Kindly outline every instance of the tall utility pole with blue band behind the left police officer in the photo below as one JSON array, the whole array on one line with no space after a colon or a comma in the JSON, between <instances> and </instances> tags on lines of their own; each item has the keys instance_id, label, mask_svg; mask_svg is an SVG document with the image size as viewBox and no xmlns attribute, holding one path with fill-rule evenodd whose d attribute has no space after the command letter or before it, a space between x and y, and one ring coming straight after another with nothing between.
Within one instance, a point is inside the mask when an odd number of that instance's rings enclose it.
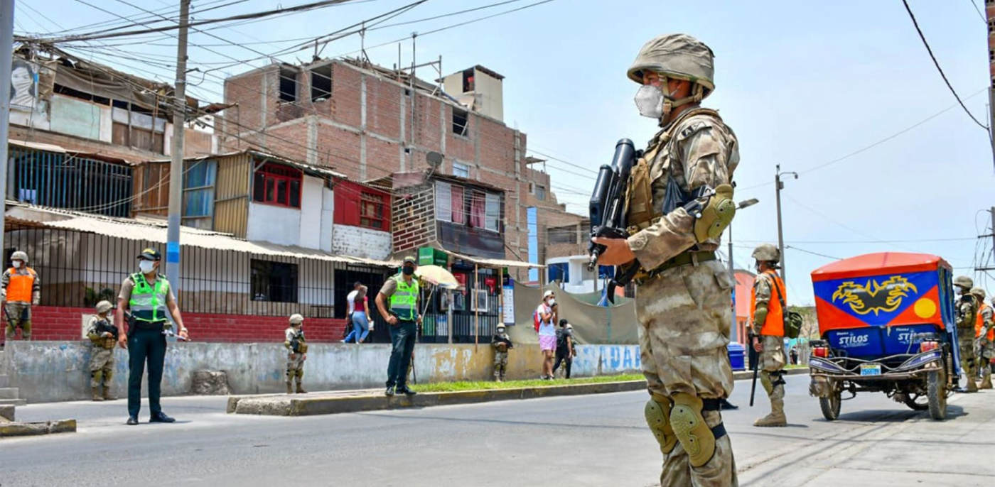
<instances>
[{"instance_id":1,"label":"tall utility pole with blue band behind the left police officer","mask_svg":"<svg viewBox=\"0 0 995 487\"><path fill-rule=\"evenodd\" d=\"M169 220L166 231L166 278L180 287L180 212L183 207L183 131L186 127L186 44L190 0L180 0L180 31L176 43L176 85L173 89L173 140L169 164ZM179 291L176 298L179 299Z\"/></svg>"}]
</instances>

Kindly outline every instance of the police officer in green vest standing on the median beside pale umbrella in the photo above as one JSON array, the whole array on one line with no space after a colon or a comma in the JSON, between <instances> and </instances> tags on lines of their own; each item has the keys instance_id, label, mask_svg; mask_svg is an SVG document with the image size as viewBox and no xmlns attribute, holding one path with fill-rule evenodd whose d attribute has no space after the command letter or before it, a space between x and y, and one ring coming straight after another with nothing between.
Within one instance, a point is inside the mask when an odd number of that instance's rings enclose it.
<instances>
[{"instance_id":1,"label":"police officer in green vest standing on the median beside pale umbrella","mask_svg":"<svg viewBox=\"0 0 995 487\"><path fill-rule=\"evenodd\" d=\"M394 396L395 392L409 396L415 394L408 389L407 380L408 364L418 338L418 325L422 322L422 317L418 314L416 267L418 263L415 257L404 257L401 273L387 279L376 295L376 307L380 316L386 317L390 324L390 341L393 345L387 366L387 391L384 393L387 396Z\"/></svg>"}]
</instances>

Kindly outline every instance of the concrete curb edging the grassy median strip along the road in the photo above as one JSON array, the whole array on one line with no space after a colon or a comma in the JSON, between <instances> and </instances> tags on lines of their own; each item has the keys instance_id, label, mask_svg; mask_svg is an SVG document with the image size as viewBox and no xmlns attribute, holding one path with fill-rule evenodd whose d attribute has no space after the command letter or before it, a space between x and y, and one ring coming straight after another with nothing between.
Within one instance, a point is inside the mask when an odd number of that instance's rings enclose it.
<instances>
[{"instance_id":1,"label":"concrete curb edging the grassy median strip along the road","mask_svg":"<svg viewBox=\"0 0 995 487\"><path fill-rule=\"evenodd\" d=\"M808 374L808 369L789 369L785 375ZM734 380L751 379L751 371L736 372ZM429 407L469 405L492 401L527 400L554 396L579 396L588 394L622 393L646 389L646 381L578 384L517 389L486 389L451 393L420 393L417 396L344 396L298 398L287 395L233 396L228 398L227 412L280 416L334 414L362 410L396 409L404 407Z\"/></svg>"}]
</instances>

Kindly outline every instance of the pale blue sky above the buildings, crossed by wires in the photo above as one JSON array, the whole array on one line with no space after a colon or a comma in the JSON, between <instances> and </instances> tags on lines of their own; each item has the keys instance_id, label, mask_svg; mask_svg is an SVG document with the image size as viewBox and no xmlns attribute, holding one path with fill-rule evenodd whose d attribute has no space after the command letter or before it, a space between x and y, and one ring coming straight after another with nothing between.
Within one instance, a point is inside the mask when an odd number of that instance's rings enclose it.
<instances>
[{"instance_id":1,"label":"pale blue sky above the buildings, crossed by wires","mask_svg":"<svg viewBox=\"0 0 995 487\"><path fill-rule=\"evenodd\" d=\"M140 13L118 0L87 1L118 15ZM177 4L172 0L128 1L166 15L172 15ZM520 0L369 32L366 45L535 1ZM304 0L249 0L202 16L197 15L198 8L228 1L193 3L195 18L216 18ZM191 33L190 42L204 46L191 46L191 67L206 70L230 62L229 57L257 58L260 55L250 50L270 54L295 43L251 43L316 37L407 3L355 1L209 31L241 47ZM429 0L387 23L489 3L493 1ZM975 116L987 123L984 21L970 0L909 3L954 88ZM976 5L981 4L976 0ZM121 23L78 0L22 0L15 20L19 33L47 33L113 20ZM832 261L802 249L832 257L883 250L930 252L945 257L956 271L975 275L973 266L980 252L975 237L986 233L985 226L990 225L990 216L978 212L995 204L991 146L987 134L959 106L951 108L956 101L932 66L900 0L554 0L421 36L416 56L422 62L441 55L446 74L481 64L505 76L505 122L528 134L529 148L569 163L550 161L546 169L560 201L581 213L593 185L592 171L608 162L615 141L629 137L642 143L656 131L655 122L636 111L632 97L638 86L626 79L625 72L647 40L668 32L692 34L715 52L716 90L705 105L718 108L739 138L736 198L760 199L759 205L741 212L733 224L738 264L748 264L756 243L776 242L772 180L775 165L781 164L782 171L801 173L799 179L787 181L782 192L784 238L800 248L787 250L791 301L811 303L808 274ZM175 40L151 35L139 41L135 46L112 48L122 51L92 43L76 52L122 71L171 81L174 73L167 61L175 56ZM352 36L328 45L322 56L352 54L358 46L358 38ZM368 54L374 63L390 67L397 61L397 49L390 44ZM307 50L280 59L307 61L310 55ZM410 63L410 42L402 44L401 56L405 64ZM192 74L191 81L204 81L191 92L202 99L220 100L220 78L264 63L239 64L207 76ZM434 75L429 70L419 74ZM922 122L932 115L936 116ZM982 245L990 249L991 241ZM995 278L975 277L976 282L995 284Z\"/></svg>"}]
</instances>

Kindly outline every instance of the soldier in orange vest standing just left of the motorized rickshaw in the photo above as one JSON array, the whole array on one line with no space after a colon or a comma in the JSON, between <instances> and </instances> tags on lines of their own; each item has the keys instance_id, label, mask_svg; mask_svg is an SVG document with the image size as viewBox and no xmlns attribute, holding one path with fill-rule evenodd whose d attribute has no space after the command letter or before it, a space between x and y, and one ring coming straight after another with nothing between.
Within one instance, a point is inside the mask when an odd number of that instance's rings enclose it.
<instances>
[{"instance_id":1,"label":"soldier in orange vest standing just left of the motorized rickshaw","mask_svg":"<svg viewBox=\"0 0 995 487\"><path fill-rule=\"evenodd\" d=\"M786 426L784 416L784 281L777 275L781 252L770 243L753 250L756 277L750 298L750 326L753 350L759 353L757 370L760 384L770 398L770 413L753 422L754 426Z\"/></svg>"}]
</instances>

